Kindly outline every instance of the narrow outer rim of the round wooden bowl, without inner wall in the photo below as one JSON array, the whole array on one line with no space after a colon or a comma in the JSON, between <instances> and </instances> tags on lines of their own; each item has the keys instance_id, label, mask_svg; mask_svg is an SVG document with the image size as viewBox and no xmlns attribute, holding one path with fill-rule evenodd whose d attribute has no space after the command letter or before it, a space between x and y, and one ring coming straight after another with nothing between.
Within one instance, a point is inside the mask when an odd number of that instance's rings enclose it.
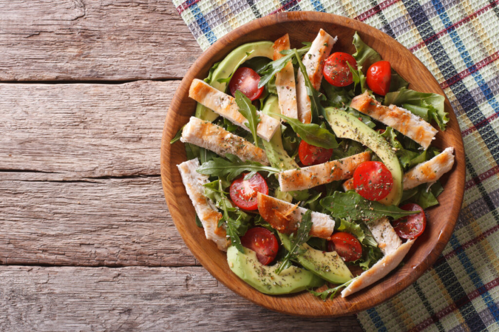
<instances>
[{"instance_id":1,"label":"narrow outer rim of the round wooden bowl, without inner wall","mask_svg":"<svg viewBox=\"0 0 499 332\"><path fill-rule=\"evenodd\" d=\"M170 145L170 140L173 138L175 133L180 130L181 126L178 126L176 128L172 128L169 123L172 123L172 121L175 119L177 116L177 113L180 111L179 108L174 109L176 105L181 105L182 100L186 94L188 94L189 91L189 86L192 82L192 80L196 77L197 74L197 68L203 68L207 63L213 64L213 59L216 56L220 56L220 51L227 47L228 45L231 44L236 44L235 46L232 47L235 48L239 44L238 38L240 36L246 35L249 31L254 31L256 29L260 29L262 27L268 27L277 23L282 23L282 22L292 22L292 21L311 21L311 22L319 22L319 23L327 23L327 24L335 24L339 27L346 27L348 29L353 29L356 31L359 31L361 33L366 33L371 36L373 36L375 39L380 39L380 38L389 38L390 42L392 43L391 46L395 48L397 52L401 52L404 54L404 56L407 56L410 58L410 61L415 64L415 66L422 66L424 67L426 74L430 75L433 81L433 84L431 87L429 87L429 91L439 93L446 98L445 106L446 106L446 111L449 112L450 116L450 121L449 123L454 122L453 125L457 125L458 131L454 133L453 139L456 139L456 146L455 148L455 166L452 170L452 173L455 174L453 177L453 181L455 182L455 196L454 200L451 202L452 204L448 204L447 207L449 208L450 205L450 220L447 222L447 224L444 226L444 228L441 230L440 235L438 237L438 241L433 247L433 249L428 252L428 256L423 259L422 261L419 262L419 264L412 266L411 273L406 273L404 275L401 275L402 271L401 269L397 269L395 272L390 273L388 276L386 276L384 279L394 279L395 281L389 285L389 287L384 287L382 288L382 296L373 297L369 296L369 294L374 295L376 294L373 289L380 288L381 282L377 282L374 285L371 285L369 288L360 291L359 293L363 293L362 298L360 301L357 301L355 303L350 304L349 299L351 297L347 297L346 299L341 299L338 300L338 298L335 298L332 302L329 301L330 304L334 303L335 301L342 301L345 302L342 306L334 306L334 305L327 305L327 302L322 302L320 299L315 299L310 297L310 300L313 302L307 303L306 308L301 308L301 307L284 307L282 305L276 305L277 301L270 301L271 299L287 299L287 298L293 298L293 297L301 297L303 293L296 293L296 294L290 294L287 296L268 296L259 293L258 291L252 289L250 286L250 291L244 290L241 288L238 288L236 285L233 283L230 283L230 280L228 280L228 276L224 271L220 271L213 266L213 261L212 258L206 255L205 251L202 250L197 250L194 248L192 245L189 245L190 240L193 240L192 235L187 232L187 231L182 231L182 224L184 221L182 221L182 212L179 211L177 205L175 204L176 197L171 194L173 187L171 186L171 179L172 176L178 176L180 177L180 174L178 173L178 170L175 165L172 165L172 159L170 158L170 152L171 152L171 145ZM245 31L245 32L242 32ZM260 39L261 40L261 39ZM255 40L256 41L256 40ZM226 53L227 54L227 53ZM224 56L226 55L224 54ZM459 137L458 137L459 134ZM174 174L176 172L176 174ZM239 294L240 296L250 300L251 302L260 305L264 308L285 313L285 314L291 314L291 315L296 315L296 316L303 316L303 317L337 317L337 316L343 316L343 315L349 315L349 314L354 314L362 310L366 310L369 308L372 308L395 294L401 292L403 289L407 288L409 285L411 285L414 281L416 281L439 257L439 255L442 253L444 247L446 246L447 242L449 241L454 227L456 225L456 221L459 215L459 212L461 210L461 205L463 201L463 196L464 196L464 184L465 184L465 157L464 157L464 146L463 146L463 140L461 137L461 133L459 131L459 124L457 122L456 115L454 113L454 110L452 109L449 100L447 99L447 96L441 89L440 85L438 84L437 80L433 77L433 75L429 72L429 70L421 63L421 61L414 55L412 54L407 48L405 48L402 44L397 42L395 39L391 38L390 36L386 35L385 33L379 31L378 29L371 27L365 23L362 23L360 21L348 18L348 17L343 17L343 16L338 16L335 14L329 14L329 13L323 13L323 12L281 12L281 13L276 13L272 14L269 16L264 16L262 18L253 20L245 25L242 25L241 27L229 32L228 34L224 35L222 38L220 38L217 42L215 42L210 48L208 48L196 61L195 63L191 66L191 68L188 70L186 75L184 76L184 79L181 81L173 99L171 102L170 109L167 112L166 119L165 119L165 125L163 128L163 137L161 141L161 178L162 178L162 184L163 184L163 191L165 194L165 199L168 204L170 213L172 215L172 219L177 226L177 229L179 230L179 233L181 234L182 238L190 248L191 252L196 256L196 258L200 261L200 263L220 282L222 282L225 286L227 286L229 289L234 291L235 293ZM186 194L187 195L187 194ZM177 218L179 217L179 218ZM206 240L208 241L208 240ZM414 247L417 248L417 242L414 245ZM413 252L414 248L411 249L411 252ZM415 250L414 250L415 251ZM411 255L411 253L408 254L408 256ZM355 295L352 295L354 297ZM271 298L269 298L271 297ZM284 301L284 300L283 300ZM324 305L326 304L326 305ZM339 308L341 307L341 308Z\"/></svg>"}]
</instances>

